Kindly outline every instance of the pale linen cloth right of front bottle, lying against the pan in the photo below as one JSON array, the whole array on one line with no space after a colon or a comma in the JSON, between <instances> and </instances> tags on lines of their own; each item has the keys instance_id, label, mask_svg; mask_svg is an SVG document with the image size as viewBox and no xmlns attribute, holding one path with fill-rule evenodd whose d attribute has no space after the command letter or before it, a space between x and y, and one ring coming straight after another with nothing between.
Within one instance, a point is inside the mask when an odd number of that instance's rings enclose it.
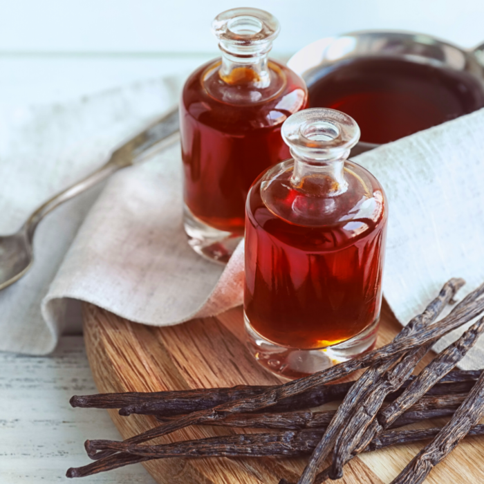
<instances>
[{"instance_id":1,"label":"pale linen cloth right of front bottle, lying against the pan","mask_svg":"<svg viewBox=\"0 0 484 484\"><path fill-rule=\"evenodd\" d=\"M383 294L402 324L450 277L466 281L457 299L484 282L484 109L355 161L382 182L389 198ZM436 350L463 331L440 339ZM484 338L459 366L484 367Z\"/></svg>"}]
</instances>

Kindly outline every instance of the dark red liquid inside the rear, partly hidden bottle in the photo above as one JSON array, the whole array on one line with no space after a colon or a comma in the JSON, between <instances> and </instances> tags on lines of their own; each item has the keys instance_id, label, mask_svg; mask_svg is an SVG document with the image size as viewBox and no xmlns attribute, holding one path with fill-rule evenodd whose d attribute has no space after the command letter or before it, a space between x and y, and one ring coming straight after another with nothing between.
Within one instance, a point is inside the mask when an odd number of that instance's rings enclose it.
<instances>
[{"instance_id":1,"label":"dark red liquid inside the rear, partly hidden bottle","mask_svg":"<svg viewBox=\"0 0 484 484\"><path fill-rule=\"evenodd\" d=\"M219 64L210 62L199 68L183 89L180 130L185 203L207 225L242 235L250 185L261 171L289 157L281 124L306 107L307 91L298 75L269 62L272 77L282 79L279 92L264 102L224 102L204 86L207 72ZM234 89L243 95L252 89L253 75L250 69L236 71Z\"/></svg>"}]
</instances>

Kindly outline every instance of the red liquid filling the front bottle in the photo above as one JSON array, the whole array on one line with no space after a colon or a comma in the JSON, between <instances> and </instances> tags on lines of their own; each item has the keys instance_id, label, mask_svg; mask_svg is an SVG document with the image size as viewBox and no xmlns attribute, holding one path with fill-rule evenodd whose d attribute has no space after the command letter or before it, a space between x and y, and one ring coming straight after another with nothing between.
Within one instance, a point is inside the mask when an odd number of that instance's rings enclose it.
<instances>
[{"instance_id":1,"label":"red liquid filling the front bottle","mask_svg":"<svg viewBox=\"0 0 484 484\"><path fill-rule=\"evenodd\" d=\"M350 182L342 214L364 193L357 176ZM252 328L279 346L309 349L343 342L371 326L382 299L384 201L373 218L296 225L268 209L260 183L250 192L245 225L244 307ZM279 192L287 185L281 183ZM285 193L281 212L295 205L295 189Z\"/></svg>"}]
</instances>

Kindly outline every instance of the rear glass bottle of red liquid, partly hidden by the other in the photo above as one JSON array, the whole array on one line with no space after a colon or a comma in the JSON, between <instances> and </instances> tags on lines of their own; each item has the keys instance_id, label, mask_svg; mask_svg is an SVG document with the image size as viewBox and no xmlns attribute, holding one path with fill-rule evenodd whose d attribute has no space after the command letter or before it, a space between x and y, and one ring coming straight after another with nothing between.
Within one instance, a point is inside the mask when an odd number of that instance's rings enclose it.
<instances>
[{"instance_id":1,"label":"rear glass bottle of red liquid, partly hidden by the other","mask_svg":"<svg viewBox=\"0 0 484 484\"><path fill-rule=\"evenodd\" d=\"M222 51L189 76L180 102L185 232L199 254L226 262L243 236L257 176L288 158L282 123L308 103L304 81L268 59L279 22L257 8L214 19Z\"/></svg>"}]
</instances>

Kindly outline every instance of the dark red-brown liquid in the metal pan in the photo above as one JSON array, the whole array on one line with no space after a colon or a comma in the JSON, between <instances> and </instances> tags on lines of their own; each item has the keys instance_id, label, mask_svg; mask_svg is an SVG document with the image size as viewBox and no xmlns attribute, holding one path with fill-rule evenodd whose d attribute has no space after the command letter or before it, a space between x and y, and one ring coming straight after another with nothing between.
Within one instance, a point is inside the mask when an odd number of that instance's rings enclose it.
<instances>
[{"instance_id":1,"label":"dark red-brown liquid in the metal pan","mask_svg":"<svg viewBox=\"0 0 484 484\"><path fill-rule=\"evenodd\" d=\"M309 100L351 115L362 141L383 144L476 111L484 88L467 72L376 57L329 66Z\"/></svg>"}]
</instances>

